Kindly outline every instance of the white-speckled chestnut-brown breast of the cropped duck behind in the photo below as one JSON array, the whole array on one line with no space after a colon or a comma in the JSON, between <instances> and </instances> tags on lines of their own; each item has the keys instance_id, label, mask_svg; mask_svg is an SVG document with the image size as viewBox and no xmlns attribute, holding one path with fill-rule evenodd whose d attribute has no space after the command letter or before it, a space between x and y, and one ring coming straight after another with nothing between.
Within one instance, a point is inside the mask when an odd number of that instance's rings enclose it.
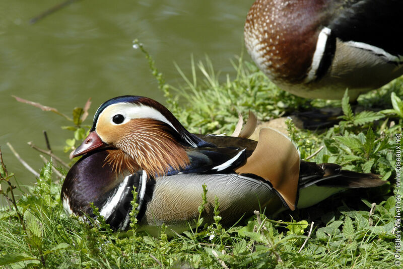
<instances>
[{"instance_id":1,"label":"white-speckled chestnut-brown breast of the cropped duck behind","mask_svg":"<svg viewBox=\"0 0 403 269\"><path fill-rule=\"evenodd\" d=\"M257 0L246 17L246 48L272 80L300 82L312 62L324 1ZM324 14L323 14L324 15Z\"/></svg>"}]
</instances>

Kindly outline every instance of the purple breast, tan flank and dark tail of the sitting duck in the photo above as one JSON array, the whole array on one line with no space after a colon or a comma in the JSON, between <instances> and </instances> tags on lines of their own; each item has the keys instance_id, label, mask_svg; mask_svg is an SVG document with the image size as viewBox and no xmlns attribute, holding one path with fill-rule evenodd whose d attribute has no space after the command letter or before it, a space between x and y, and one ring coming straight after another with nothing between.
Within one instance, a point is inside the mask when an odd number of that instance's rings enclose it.
<instances>
[{"instance_id":1,"label":"purple breast, tan flank and dark tail of the sitting duck","mask_svg":"<svg viewBox=\"0 0 403 269\"><path fill-rule=\"evenodd\" d=\"M197 207L202 202L203 184L208 189L208 204L202 215L206 222L213 221L215 196L219 198L219 210L225 225L253 214L254 210L265 208L265 213L271 215L287 209L287 204L273 189L272 184L254 174L238 174L230 170L224 173L209 169L205 172L187 170L186 173L147 178L146 187L142 189L146 173L138 171L126 176L118 175L112 172L112 167L108 164L99 166L99 161L105 156L104 151L95 152L84 156L72 167L63 184L62 200L67 200L70 210L80 216L85 213L94 217L90 207L90 203L94 203L114 229L128 228L132 190L139 193L138 203L142 204L137 216L140 230L148 231L162 223L177 232L186 230L187 223L192 224L192 220L198 216ZM88 167L94 169L89 170ZM309 174L307 170L312 168L312 174ZM299 191L302 197L299 198L299 208L316 204L348 188L368 188L384 184L376 175L342 170L339 165L333 164L301 162L301 172L303 174L299 177ZM315 188L320 191L312 196L309 190ZM305 193L305 190L308 192ZM142 192L143 197L140 196Z\"/></svg>"}]
</instances>

